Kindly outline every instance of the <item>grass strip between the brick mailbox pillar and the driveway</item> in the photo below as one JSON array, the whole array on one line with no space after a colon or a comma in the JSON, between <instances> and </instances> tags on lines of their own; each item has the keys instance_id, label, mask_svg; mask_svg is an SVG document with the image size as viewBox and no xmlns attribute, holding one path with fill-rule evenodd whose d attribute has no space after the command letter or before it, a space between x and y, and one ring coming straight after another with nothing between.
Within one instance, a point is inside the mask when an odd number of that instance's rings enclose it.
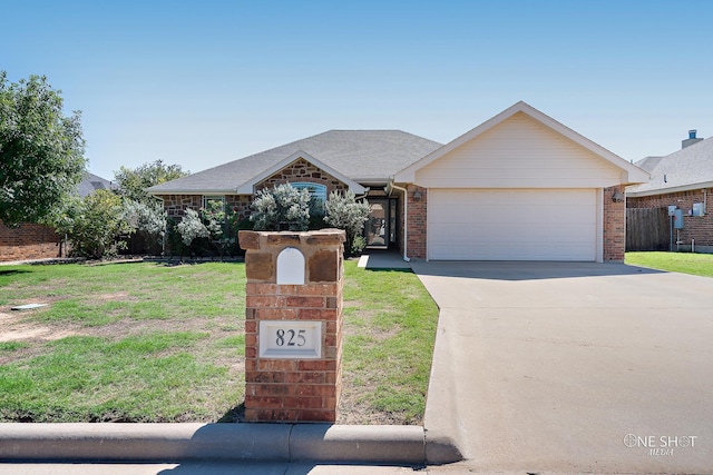
<instances>
[{"instance_id":1,"label":"grass strip between the brick mailbox pillar and the driveway","mask_svg":"<svg viewBox=\"0 0 713 475\"><path fill-rule=\"evenodd\" d=\"M354 263L346 263L344 303L344 377L359 383L345 393L358 393L355 405L420 423L438 307L414 274L367 271Z\"/></svg>"}]
</instances>

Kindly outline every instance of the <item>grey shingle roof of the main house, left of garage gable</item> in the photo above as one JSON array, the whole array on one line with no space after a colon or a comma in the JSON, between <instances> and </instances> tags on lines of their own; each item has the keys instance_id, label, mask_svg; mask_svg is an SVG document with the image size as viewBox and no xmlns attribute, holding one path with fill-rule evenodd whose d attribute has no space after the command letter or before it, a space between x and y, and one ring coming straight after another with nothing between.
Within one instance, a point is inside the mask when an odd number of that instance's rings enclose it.
<instances>
[{"instance_id":1,"label":"grey shingle roof of the main house, left of garage gable","mask_svg":"<svg viewBox=\"0 0 713 475\"><path fill-rule=\"evenodd\" d=\"M164 192L231 192L240 185L302 150L358 182L390 176L441 144L401 130L329 130L148 189Z\"/></svg>"}]
</instances>

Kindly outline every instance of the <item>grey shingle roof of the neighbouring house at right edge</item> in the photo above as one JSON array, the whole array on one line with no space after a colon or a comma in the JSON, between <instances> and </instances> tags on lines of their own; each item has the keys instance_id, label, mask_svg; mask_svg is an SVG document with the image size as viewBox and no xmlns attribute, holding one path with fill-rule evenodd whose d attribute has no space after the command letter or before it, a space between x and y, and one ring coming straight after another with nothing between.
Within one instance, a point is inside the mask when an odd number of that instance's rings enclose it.
<instances>
[{"instance_id":1,"label":"grey shingle roof of the neighbouring house at right edge","mask_svg":"<svg viewBox=\"0 0 713 475\"><path fill-rule=\"evenodd\" d=\"M647 184L628 187L631 196L657 195L713 184L713 138L707 138L665 157L646 157L636 162L651 174Z\"/></svg>"}]
</instances>

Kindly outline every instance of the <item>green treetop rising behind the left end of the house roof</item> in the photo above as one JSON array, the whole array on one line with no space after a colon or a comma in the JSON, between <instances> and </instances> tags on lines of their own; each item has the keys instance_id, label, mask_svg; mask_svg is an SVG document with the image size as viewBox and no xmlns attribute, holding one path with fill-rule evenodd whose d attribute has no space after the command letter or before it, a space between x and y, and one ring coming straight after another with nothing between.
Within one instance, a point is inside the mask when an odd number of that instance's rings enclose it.
<instances>
[{"instance_id":1,"label":"green treetop rising behind the left end of the house roof","mask_svg":"<svg viewBox=\"0 0 713 475\"><path fill-rule=\"evenodd\" d=\"M148 204L155 201L145 190L146 188L160 185L191 175L183 171L180 165L165 165L163 160L144 164L135 169L119 167L114 172L114 180L119 186L119 192L128 199Z\"/></svg>"}]
</instances>

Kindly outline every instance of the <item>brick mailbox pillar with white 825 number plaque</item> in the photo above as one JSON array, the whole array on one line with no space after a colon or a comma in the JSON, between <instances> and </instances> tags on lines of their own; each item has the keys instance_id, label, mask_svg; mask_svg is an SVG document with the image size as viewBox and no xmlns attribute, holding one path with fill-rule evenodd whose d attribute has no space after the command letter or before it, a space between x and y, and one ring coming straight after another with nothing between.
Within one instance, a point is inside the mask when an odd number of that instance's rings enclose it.
<instances>
[{"instance_id":1,"label":"brick mailbox pillar with white 825 number plaque","mask_svg":"<svg viewBox=\"0 0 713 475\"><path fill-rule=\"evenodd\" d=\"M245 419L336 420L344 231L240 231L245 249Z\"/></svg>"}]
</instances>

